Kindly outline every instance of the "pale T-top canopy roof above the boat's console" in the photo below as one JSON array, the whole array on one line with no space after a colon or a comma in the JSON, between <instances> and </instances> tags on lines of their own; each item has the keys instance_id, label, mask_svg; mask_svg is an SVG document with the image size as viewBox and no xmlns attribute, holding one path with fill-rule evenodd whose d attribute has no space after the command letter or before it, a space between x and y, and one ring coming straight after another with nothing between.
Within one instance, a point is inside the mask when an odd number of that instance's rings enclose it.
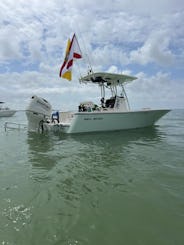
<instances>
[{"instance_id":1,"label":"pale T-top canopy roof above the boat's console","mask_svg":"<svg viewBox=\"0 0 184 245\"><path fill-rule=\"evenodd\" d=\"M127 82L131 82L137 79L137 77L116 74L116 73L106 73L106 72L96 72L90 73L87 76L81 77L80 82L92 82L97 84L107 83L107 85L118 85Z\"/></svg>"}]
</instances>

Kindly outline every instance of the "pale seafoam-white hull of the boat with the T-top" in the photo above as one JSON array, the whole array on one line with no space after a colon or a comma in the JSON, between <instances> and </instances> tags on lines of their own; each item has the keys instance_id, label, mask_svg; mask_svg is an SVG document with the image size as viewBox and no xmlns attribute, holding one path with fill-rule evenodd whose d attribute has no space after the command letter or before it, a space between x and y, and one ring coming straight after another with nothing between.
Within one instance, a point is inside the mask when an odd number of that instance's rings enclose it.
<instances>
[{"instance_id":1,"label":"pale seafoam-white hull of the boat with the T-top","mask_svg":"<svg viewBox=\"0 0 184 245\"><path fill-rule=\"evenodd\" d=\"M128 112L79 112L70 124L44 123L44 130L63 133L87 133L143 128L154 125L169 110L142 110Z\"/></svg>"}]
</instances>

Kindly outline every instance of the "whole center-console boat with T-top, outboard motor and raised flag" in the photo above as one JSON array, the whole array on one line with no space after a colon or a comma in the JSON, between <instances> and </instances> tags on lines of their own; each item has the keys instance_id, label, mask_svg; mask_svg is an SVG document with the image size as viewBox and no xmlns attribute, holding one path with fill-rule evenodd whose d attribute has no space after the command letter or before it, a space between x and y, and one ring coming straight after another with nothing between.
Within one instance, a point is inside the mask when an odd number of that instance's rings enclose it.
<instances>
[{"instance_id":1,"label":"whole center-console boat with T-top, outboard motor and raised flag","mask_svg":"<svg viewBox=\"0 0 184 245\"><path fill-rule=\"evenodd\" d=\"M60 77L72 79L72 65L82 53L75 34L68 40L66 56L60 70ZM130 110L124 84L137 79L123 74L90 72L79 79L80 83L99 86L101 96L98 104L91 101L76 105L75 112L52 113L51 104L40 97L32 96L26 109L28 131L58 131L61 133L89 133L126 130L152 126L169 110ZM110 96L107 96L107 90Z\"/></svg>"}]
</instances>

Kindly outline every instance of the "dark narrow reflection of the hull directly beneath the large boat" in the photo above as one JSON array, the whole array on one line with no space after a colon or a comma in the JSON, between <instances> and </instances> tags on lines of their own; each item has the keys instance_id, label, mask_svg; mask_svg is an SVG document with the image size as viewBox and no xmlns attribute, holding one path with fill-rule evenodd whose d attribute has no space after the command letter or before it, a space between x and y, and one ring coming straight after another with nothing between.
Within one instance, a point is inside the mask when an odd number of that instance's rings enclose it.
<instances>
[{"instance_id":1,"label":"dark narrow reflection of the hull directly beneath the large boat","mask_svg":"<svg viewBox=\"0 0 184 245\"><path fill-rule=\"evenodd\" d=\"M55 134L55 139L58 141L68 141L68 144L72 142L76 146L75 149L71 149L72 155L73 153L77 155L87 153L92 159L94 158L94 161L97 153L104 153L106 156L110 152L122 154L123 151L131 150L133 145L154 145L158 144L163 138L164 132L159 129L159 126L89 134ZM118 158L118 155L115 158Z\"/></svg>"}]
</instances>

